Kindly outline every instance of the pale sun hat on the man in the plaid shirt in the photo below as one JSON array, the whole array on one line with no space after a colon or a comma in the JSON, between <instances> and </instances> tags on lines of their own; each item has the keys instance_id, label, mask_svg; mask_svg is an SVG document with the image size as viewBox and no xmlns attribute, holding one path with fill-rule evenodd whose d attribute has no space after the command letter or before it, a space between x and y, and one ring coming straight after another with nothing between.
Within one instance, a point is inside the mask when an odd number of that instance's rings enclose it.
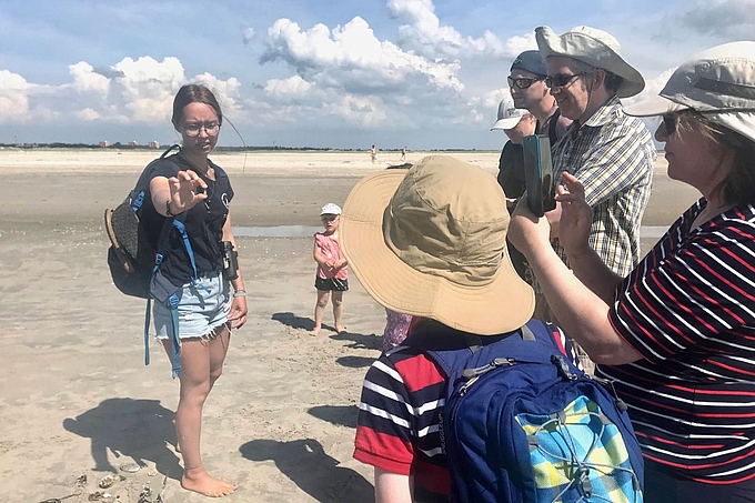
<instances>
[{"instance_id":1,"label":"pale sun hat on the man in the plaid shirt","mask_svg":"<svg viewBox=\"0 0 755 503\"><path fill-rule=\"evenodd\" d=\"M564 34L557 34L550 27L540 27L535 28L535 41L543 61L550 56L563 56L608 70L624 79L616 92L618 98L630 98L645 89L645 79L624 61L620 56L618 41L606 31L575 27Z\"/></svg>"}]
</instances>

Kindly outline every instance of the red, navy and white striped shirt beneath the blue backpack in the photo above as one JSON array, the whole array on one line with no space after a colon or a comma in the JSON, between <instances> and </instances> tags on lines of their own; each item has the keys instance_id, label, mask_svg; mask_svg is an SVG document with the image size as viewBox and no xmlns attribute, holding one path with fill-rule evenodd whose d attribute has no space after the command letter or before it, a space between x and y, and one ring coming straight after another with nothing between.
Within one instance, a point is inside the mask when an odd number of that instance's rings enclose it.
<instances>
[{"instance_id":1,"label":"red, navy and white striped shirt beneath the blue backpack","mask_svg":"<svg viewBox=\"0 0 755 503\"><path fill-rule=\"evenodd\" d=\"M564 334L551 329L564 354L578 364ZM386 472L413 475L416 502L449 501L451 477L439 415L446 389L441 369L410 345L382 354L364 379L354 457Z\"/></svg>"}]
</instances>

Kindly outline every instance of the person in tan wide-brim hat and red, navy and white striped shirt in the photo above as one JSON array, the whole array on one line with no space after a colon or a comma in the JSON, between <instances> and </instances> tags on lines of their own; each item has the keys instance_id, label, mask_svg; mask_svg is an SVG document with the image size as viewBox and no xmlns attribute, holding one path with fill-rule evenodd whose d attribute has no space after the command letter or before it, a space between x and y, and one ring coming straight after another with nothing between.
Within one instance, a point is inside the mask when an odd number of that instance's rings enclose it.
<instances>
[{"instance_id":1,"label":"person in tan wide-brim hat and red, navy and white striped shirt","mask_svg":"<svg viewBox=\"0 0 755 503\"><path fill-rule=\"evenodd\" d=\"M486 345L531 320L533 291L506 250L506 197L492 174L434 155L409 171L366 177L341 218L343 250L360 283L384 308L415 316L406 341L368 371L354 457L374 466L380 502L447 501L440 433L447 378L415 338L430 326L433 341L461 336L464 344L472 336ZM577 365L558 329L540 326Z\"/></svg>"}]
</instances>

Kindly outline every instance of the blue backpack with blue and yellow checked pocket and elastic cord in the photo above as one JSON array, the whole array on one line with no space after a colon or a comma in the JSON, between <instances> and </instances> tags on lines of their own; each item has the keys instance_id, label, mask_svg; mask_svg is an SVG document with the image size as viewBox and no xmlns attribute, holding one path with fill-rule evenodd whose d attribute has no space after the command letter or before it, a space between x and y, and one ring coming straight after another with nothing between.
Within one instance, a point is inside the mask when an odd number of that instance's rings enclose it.
<instances>
[{"instance_id":1,"label":"blue backpack with blue and yellow checked pocket and elastic cord","mask_svg":"<svg viewBox=\"0 0 755 503\"><path fill-rule=\"evenodd\" d=\"M439 324L416 331L449 340L439 329L457 341L423 344L449 378L440 423L452 502L643 501L626 405L564 356L558 329L531 320L489 343Z\"/></svg>"}]
</instances>

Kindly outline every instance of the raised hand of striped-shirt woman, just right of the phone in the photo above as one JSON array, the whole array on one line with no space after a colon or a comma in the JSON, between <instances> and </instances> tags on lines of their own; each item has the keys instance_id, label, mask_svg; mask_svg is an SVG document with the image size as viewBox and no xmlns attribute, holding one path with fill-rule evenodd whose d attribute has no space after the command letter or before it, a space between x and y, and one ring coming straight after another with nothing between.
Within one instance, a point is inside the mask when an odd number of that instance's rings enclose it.
<instances>
[{"instance_id":1,"label":"raised hand of striped-shirt woman, just right of the phone","mask_svg":"<svg viewBox=\"0 0 755 503\"><path fill-rule=\"evenodd\" d=\"M556 201L561 203L561 230L558 240L566 253L577 253L590 248L590 232L593 225L593 210L585 202L582 182L564 172L563 185L558 185Z\"/></svg>"}]
</instances>

